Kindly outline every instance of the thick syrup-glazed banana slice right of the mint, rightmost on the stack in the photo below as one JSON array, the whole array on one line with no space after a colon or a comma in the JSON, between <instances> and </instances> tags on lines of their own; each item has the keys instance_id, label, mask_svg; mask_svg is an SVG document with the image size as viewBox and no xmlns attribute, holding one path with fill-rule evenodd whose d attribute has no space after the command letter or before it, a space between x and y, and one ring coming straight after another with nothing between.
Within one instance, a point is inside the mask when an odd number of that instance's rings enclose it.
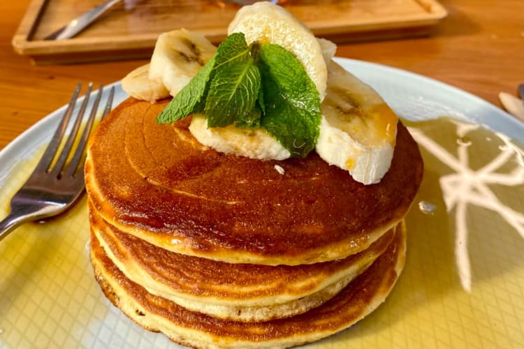
<instances>
[{"instance_id":1,"label":"thick syrup-glazed banana slice right of the mint, rightmost on the stack","mask_svg":"<svg viewBox=\"0 0 524 349\"><path fill-rule=\"evenodd\" d=\"M315 150L356 181L378 183L391 165L398 117L374 89L335 61L328 72Z\"/></svg>"}]
</instances>

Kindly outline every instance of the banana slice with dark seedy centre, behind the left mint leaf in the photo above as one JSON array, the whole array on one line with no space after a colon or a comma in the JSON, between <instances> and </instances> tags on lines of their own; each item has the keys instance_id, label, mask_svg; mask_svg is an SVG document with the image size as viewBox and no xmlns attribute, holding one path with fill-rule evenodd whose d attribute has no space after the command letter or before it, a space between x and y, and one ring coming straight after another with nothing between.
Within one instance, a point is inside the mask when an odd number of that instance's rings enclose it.
<instances>
[{"instance_id":1,"label":"banana slice with dark seedy centre, behind the left mint leaf","mask_svg":"<svg viewBox=\"0 0 524 349\"><path fill-rule=\"evenodd\" d=\"M175 96L217 51L201 34L187 29L160 34L150 63L150 80L162 82Z\"/></svg>"}]
</instances>

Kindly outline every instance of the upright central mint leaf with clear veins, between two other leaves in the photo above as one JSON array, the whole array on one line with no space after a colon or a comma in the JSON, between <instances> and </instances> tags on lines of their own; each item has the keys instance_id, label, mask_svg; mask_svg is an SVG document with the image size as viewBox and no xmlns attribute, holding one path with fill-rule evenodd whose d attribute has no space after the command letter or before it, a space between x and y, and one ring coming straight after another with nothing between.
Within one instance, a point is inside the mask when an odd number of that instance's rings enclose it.
<instances>
[{"instance_id":1,"label":"upright central mint leaf with clear veins, between two other leaves","mask_svg":"<svg viewBox=\"0 0 524 349\"><path fill-rule=\"evenodd\" d=\"M252 124L249 114L259 95L261 78L250 51L241 33L228 36L217 50L217 73L204 108L209 127L228 126L235 121Z\"/></svg>"}]
</instances>

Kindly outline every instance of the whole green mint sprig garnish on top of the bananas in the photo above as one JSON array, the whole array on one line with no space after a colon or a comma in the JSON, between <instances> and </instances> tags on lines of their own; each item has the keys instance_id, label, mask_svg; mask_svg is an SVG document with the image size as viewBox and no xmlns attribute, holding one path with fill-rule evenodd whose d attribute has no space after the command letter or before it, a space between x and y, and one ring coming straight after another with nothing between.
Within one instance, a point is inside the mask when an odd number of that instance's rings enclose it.
<instances>
[{"instance_id":1,"label":"whole green mint sprig garnish on top of the bananas","mask_svg":"<svg viewBox=\"0 0 524 349\"><path fill-rule=\"evenodd\" d=\"M209 127L263 127L304 158L319 136L320 98L300 61L275 44L231 34L157 117L159 124L204 112Z\"/></svg>"}]
</instances>

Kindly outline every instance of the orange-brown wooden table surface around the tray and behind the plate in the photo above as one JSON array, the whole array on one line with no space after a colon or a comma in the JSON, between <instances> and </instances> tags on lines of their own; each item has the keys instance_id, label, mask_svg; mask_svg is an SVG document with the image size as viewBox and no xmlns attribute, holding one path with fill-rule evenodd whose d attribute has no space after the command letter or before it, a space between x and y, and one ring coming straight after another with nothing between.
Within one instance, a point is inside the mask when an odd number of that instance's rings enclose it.
<instances>
[{"instance_id":1,"label":"orange-brown wooden table surface around the tray and behind the plate","mask_svg":"<svg viewBox=\"0 0 524 349\"><path fill-rule=\"evenodd\" d=\"M426 38L340 45L337 56L373 61L434 77L499 105L500 91L524 82L523 0L442 0L447 17ZM145 64L119 61L33 66L11 47L29 0L0 4L0 149L67 103L78 81L120 80Z\"/></svg>"}]
</instances>

